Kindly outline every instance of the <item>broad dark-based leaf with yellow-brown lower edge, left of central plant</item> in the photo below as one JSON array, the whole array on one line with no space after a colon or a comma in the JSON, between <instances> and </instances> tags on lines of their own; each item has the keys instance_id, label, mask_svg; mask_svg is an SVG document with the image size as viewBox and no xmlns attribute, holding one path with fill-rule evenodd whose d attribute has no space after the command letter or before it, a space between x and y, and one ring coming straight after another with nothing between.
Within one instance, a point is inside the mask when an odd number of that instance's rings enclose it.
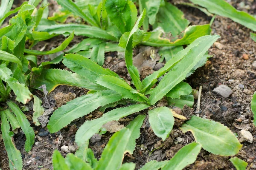
<instances>
[{"instance_id":1,"label":"broad dark-based leaf with yellow-brown lower edge, left of central plant","mask_svg":"<svg viewBox=\"0 0 256 170\"><path fill-rule=\"evenodd\" d=\"M71 85L89 90L104 90L104 88L90 82L88 79L80 76L79 74L72 73L60 69L43 69L41 73L32 73L30 87L39 88L41 85L46 85L47 91L50 93L58 85Z\"/></svg>"}]
</instances>

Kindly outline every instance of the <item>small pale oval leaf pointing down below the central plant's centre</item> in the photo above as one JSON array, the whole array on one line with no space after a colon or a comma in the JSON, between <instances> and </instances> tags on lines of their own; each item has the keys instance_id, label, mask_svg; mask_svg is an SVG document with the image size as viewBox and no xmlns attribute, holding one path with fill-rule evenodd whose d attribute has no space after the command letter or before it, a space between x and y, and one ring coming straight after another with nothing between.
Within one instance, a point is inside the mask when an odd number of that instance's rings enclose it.
<instances>
[{"instance_id":1,"label":"small pale oval leaf pointing down below the central plant's centre","mask_svg":"<svg viewBox=\"0 0 256 170\"><path fill-rule=\"evenodd\" d=\"M148 111L148 120L156 136L163 141L169 137L174 125L172 111L169 108L160 107Z\"/></svg>"}]
</instances>

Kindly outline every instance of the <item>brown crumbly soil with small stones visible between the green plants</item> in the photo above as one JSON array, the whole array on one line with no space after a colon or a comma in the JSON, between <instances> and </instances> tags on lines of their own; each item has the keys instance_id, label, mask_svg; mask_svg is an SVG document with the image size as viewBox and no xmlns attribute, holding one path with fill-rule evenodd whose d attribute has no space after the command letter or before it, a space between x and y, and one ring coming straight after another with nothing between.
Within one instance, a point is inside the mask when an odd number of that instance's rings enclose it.
<instances>
[{"instance_id":1,"label":"brown crumbly soil with small stones visible between the green plants","mask_svg":"<svg viewBox=\"0 0 256 170\"><path fill-rule=\"evenodd\" d=\"M172 1L172 3L176 2L176 0ZM233 0L231 3L240 10L255 14L256 2L245 1L245 4L250 6L249 10L240 8L238 6L238 3L240 2L240 0ZM184 12L184 16L191 22L191 25L207 24L211 20L211 17L208 17L198 9L180 5L178 5L178 8ZM55 6L52 6L51 9L56 8ZM250 39L250 32L251 31L248 28L241 26L230 19L217 16L212 25L212 34L221 35L221 39L219 39L218 42L222 44L223 48L218 49L213 45L212 48L209 49L209 54L213 55L213 57L209 59L205 66L199 68L195 74L186 79L186 82L189 82L192 88L195 89L198 89L200 85L203 86L200 103L201 113L199 114L201 117L221 122L229 127L233 133L239 133L240 129L237 127L246 127L250 133L252 133L253 137L255 137L256 128L252 123L253 114L250 110L250 101L253 92L256 91L256 70L252 67L252 63L256 60L256 43ZM76 37L69 47L80 42L82 39L83 37ZM45 50L50 50L52 47L57 47L61 44L63 40L63 36L58 36L54 39L38 43L33 49L39 50L45 44L48 44L46 45ZM144 50L144 47L135 49L134 56ZM248 59L244 59L243 54L247 54ZM109 53L105 56L104 67L115 71L120 77L131 84L131 77L129 77L128 71L122 63L124 61L121 57L122 54ZM49 60L48 56L41 56L38 59L39 62L46 60ZM63 68L63 65L56 65L56 67ZM233 94L229 98L224 99L217 94L212 93L212 90L220 84L227 85L233 90ZM86 94L86 92L87 91L82 88L61 85L56 88L50 96L52 98L55 96L55 99L57 100L56 107L58 107L62 103L70 100L70 97L79 97ZM63 97L60 97L60 93ZM40 91L35 91L34 94L40 98L43 97L43 94ZM195 100L193 108L195 108L196 104L197 101ZM195 113L195 110L191 111L188 108L183 110L183 114L186 114L186 116L191 113ZM32 110L30 109L26 114L31 115ZM137 114L138 113L127 116L119 122L122 125L127 125L129 121L137 116ZM96 119L100 116L102 116L102 112L94 111L91 113L91 116L86 116L73 121L67 127L53 134L49 134L45 128L32 125L37 133L35 142L38 143L32 147L32 150L29 153L24 151L24 135L19 131L15 135L14 140L17 148L21 150L24 169L51 170L52 152L55 149L60 150L60 147L63 145L76 148L74 136L77 128L79 128L85 120ZM137 146L134 150L134 154L125 155L124 162L134 162L136 163L136 169L139 169L150 160L162 161L171 159L181 147L195 141L192 133L184 134L178 129L178 126L180 126L181 123L182 122L176 121L175 127L169 138L163 142L160 138L154 135L154 132L149 125L148 118L146 118L141 128L140 138L136 141ZM101 153L112 134L113 133L107 132L102 136L102 139L99 142L90 143L89 146L93 150L96 158L100 158ZM177 143L177 138L181 138L182 141ZM255 138L253 139L252 144L244 142L241 151L236 155L240 159L248 162L248 168L250 168L250 170L256 170L255 142ZM0 167L2 170L7 170L7 154L3 148L3 141L0 139ZM63 156L66 155L66 153L61 153ZM215 156L202 149L198 155L197 161L194 164L187 166L185 169L235 170L235 167L233 167L228 159L229 157Z\"/></svg>"}]
</instances>

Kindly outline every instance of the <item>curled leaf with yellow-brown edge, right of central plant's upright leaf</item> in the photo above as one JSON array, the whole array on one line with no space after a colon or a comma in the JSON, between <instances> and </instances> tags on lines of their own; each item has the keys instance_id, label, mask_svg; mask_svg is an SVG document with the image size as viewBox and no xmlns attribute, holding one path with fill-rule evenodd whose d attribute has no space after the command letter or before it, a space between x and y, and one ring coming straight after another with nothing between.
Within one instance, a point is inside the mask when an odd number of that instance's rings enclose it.
<instances>
[{"instance_id":1,"label":"curled leaf with yellow-brown edge, right of central plant's upright leaf","mask_svg":"<svg viewBox=\"0 0 256 170\"><path fill-rule=\"evenodd\" d=\"M174 38L174 42L171 42L171 40L161 37L162 31L148 32L145 33L142 44L156 47L187 45L192 43L197 38L204 35L209 35L210 33L211 28L209 24L201 26L189 26L186 28L184 33L181 33L178 36L182 38Z\"/></svg>"}]
</instances>

